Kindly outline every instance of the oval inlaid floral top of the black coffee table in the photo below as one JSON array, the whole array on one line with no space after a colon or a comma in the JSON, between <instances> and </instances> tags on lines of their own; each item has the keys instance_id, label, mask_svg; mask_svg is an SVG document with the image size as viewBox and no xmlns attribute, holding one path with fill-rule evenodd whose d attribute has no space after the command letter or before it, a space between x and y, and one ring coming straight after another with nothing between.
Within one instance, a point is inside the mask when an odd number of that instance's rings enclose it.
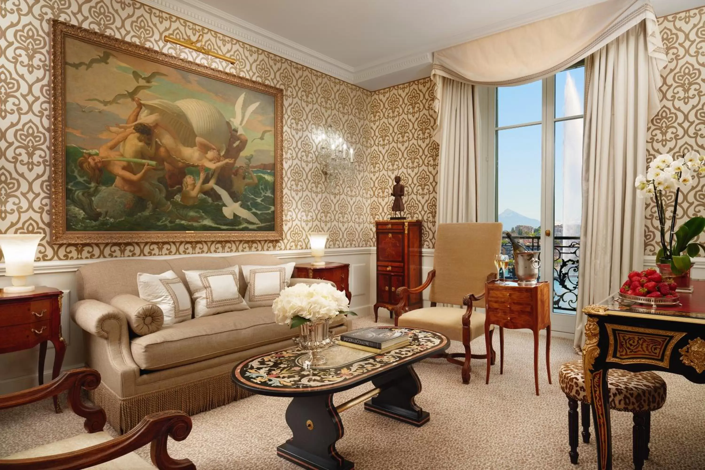
<instances>
[{"instance_id":1,"label":"oval inlaid floral top of the black coffee table","mask_svg":"<svg viewBox=\"0 0 705 470\"><path fill-rule=\"evenodd\" d=\"M290 347L241 362L233 369L233 381L259 395L296 397L336 393L448 348L448 338L440 333L415 328L391 329L409 333L410 344L384 354L334 345L321 352L326 364L312 369L302 366L306 352Z\"/></svg>"}]
</instances>

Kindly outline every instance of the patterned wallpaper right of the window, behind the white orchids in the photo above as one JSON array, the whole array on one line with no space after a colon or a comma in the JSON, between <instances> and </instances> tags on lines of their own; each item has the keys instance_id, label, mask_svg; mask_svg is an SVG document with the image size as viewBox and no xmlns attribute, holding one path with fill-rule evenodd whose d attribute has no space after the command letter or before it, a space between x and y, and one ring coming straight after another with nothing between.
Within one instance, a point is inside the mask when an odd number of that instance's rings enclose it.
<instances>
[{"instance_id":1,"label":"patterned wallpaper right of the window, behind the white orchids","mask_svg":"<svg viewBox=\"0 0 705 470\"><path fill-rule=\"evenodd\" d=\"M705 152L705 6L658 18L668 65L661 70L663 106L651 119L646 149L648 160L690 150ZM680 199L680 221L705 216L705 185L692 188ZM673 204L673 194L669 204ZM678 224L676 225L678 226ZM656 206L646 205L644 252L658 251ZM705 237L700 238L704 241Z\"/></svg>"}]
</instances>

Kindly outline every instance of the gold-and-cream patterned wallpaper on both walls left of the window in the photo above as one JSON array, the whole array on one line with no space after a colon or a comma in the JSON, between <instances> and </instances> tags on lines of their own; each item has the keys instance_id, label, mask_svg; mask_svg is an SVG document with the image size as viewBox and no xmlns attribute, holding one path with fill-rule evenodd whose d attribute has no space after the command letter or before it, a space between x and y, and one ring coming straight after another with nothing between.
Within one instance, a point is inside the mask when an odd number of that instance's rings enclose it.
<instances>
[{"instance_id":1,"label":"gold-and-cream patterned wallpaper on both walls left of the window","mask_svg":"<svg viewBox=\"0 0 705 470\"><path fill-rule=\"evenodd\" d=\"M87 27L284 89L284 233L281 242L166 242L51 245L38 259L88 259L272 249L305 249L309 231L330 232L329 247L374 245L374 218L388 216L393 175L409 185L407 208L433 225L436 161L431 82L371 93L127 0L0 0L0 233L49 235L49 19ZM204 35L235 65L161 40ZM355 180L325 190L313 132L333 125L353 144ZM374 151L372 151L374 149ZM424 246L432 247L427 230Z\"/></svg>"}]
</instances>

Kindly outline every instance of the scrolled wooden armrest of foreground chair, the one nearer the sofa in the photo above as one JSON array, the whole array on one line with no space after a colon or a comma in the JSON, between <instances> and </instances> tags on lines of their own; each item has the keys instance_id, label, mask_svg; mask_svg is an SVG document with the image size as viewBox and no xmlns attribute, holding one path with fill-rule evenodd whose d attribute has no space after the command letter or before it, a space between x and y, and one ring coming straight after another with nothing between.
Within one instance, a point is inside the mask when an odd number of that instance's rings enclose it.
<instances>
[{"instance_id":1,"label":"scrolled wooden armrest of foreground chair, the one nearer the sofa","mask_svg":"<svg viewBox=\"0 0 705 470\"><path fill-rule=\"evenodd\" d=\"M82 367L61 373L53 381L38 387L0 396L0 409L18 407L23 404L38 402L47 397L59 395L68 390L68 403L75 414L85 418L83 427L89 433L103 431L105 412L101 407L81 401L81 389L95 390L100 384L100 373L94 369Z\"/></svg>"}]
</instances>

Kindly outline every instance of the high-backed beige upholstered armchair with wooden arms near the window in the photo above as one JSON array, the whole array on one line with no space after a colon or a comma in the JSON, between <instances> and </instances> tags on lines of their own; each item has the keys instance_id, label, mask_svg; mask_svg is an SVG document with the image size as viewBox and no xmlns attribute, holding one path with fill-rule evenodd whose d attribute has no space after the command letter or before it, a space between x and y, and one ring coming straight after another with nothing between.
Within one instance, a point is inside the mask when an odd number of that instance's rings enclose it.
<instances>
[{"instance_id":1,"label":"high-backed beige upholstered armchair with wooden arms near the window","mask_svg":"<svg viewBox=\"0 0 705 470\"><path fill-rule=\"evenodd\" d=\"M470 342L484 335L484 285L496 277L494 256L502 240L501 223L439 223L436 227L434 269L419 287L400 287L399 303L394 307L394 324L407 328L437 331L460 341L464 353L443 353L448 362L462 366L462 383L470 383L470 359L487 359L486 354L471 354ZM408 311L410 295L431 287L431 307ZM438 304L462 305L438 307ZM494 326L489 330L490 342ZM491 349L491 364L495 352ZM459 359L462 358L462 361Z\"/></svg>"}]
</instances>

